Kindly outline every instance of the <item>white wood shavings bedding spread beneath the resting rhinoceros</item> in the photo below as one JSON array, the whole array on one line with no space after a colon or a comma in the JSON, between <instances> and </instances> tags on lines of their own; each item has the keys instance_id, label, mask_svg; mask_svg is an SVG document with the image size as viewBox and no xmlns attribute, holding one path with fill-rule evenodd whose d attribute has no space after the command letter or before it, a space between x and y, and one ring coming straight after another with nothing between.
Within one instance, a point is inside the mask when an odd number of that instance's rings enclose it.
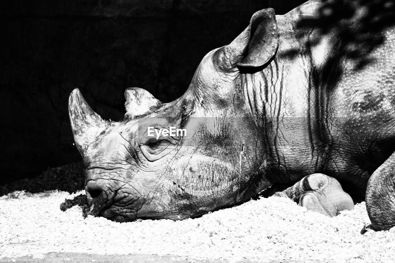
<instances>
[{"instance_id":1,"label":"white wood shavings bedding spread beneath the resting rhinoceros","mask_svg":"<svg viewBox=\"0 0 395 263\"><path fill-rule=\"evenodd\" d=\"M395 262L395 227L369 225L365 203L329 218L284 197L262 198L181 221L117 223L83 218L60 203L78 192L0 197L0 261L49 252L179 255L188 259L265 262Z\"/></svg>"}]
</instances>

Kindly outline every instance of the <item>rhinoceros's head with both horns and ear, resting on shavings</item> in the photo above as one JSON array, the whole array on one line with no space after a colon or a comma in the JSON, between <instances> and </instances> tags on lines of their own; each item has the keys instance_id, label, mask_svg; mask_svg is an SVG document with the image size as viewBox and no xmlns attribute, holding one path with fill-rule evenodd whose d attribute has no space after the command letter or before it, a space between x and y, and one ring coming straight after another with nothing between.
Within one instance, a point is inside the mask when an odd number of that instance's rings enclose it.
<instances>
[{"instance_id":1,"label":"rhinoceros's head with both horns and ear, resting on shavings","mask_svg":"<svg viewBox=\"0 0 395 263\"><path fill-rule=\"evenodd\" d=\"M90 214L118 222L177 220L241 203L269 187L261 172L264 142L240 69L264 67L277 45L274 11L262 10L232 43L203 58L181 98L162 103L128 88L120 122L103 120L73 90L70 121L86 166ZM156 133L171 127L173 134Z\"/></svg>"}]
</instances>

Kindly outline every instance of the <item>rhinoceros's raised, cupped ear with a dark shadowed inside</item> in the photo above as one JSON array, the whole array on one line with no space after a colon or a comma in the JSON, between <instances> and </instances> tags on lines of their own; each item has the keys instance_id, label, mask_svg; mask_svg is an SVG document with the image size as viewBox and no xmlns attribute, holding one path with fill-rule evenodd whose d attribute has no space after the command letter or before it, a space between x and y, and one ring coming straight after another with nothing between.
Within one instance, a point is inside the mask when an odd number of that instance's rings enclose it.
<instances>
[{"instance_id":1,"label":"rhinoceros's raised, cupped ear with a dark shadowed inside","mask_svg":"<svg viewBox=\"0 0 395 263\"><path fill-rule=\"evenodd\" d=\"M237 67L260 67L275 55L278 38L274 9L263 9L256 12L250 25L224 47L224 57L229 60L227 64Z\"/></svg>"}]
</instances>

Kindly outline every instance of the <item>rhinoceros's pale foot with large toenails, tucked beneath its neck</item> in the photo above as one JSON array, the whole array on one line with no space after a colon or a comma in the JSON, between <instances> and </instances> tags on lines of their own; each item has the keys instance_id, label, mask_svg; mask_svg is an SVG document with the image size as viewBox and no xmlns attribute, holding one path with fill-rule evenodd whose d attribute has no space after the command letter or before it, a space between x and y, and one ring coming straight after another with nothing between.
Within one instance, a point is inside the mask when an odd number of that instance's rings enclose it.
<instances>
[{"instance_id":1,"label":"rhinoceros's pale foot with large toenails, tucked beneath its neck","mask_svg":"<svg viewBox=\"0 0 395 263\"><path fill-rule=\"evenodd\" d=\"M302 180L276 195L285 195L302 207L327 216L336 216L342 210L354 208L352 198L343 191L340 183L335 178L322 173L303 177Z\"/></svg>"}]
</instances>

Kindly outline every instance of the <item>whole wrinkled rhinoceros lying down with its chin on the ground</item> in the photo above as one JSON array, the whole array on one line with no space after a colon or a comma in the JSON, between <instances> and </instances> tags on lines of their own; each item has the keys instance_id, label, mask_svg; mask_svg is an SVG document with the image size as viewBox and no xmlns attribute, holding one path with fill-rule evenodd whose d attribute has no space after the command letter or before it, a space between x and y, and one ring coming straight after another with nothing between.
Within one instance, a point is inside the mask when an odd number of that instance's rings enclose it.
<instances>
[{"instance_id":1,"label":"whole wrinkled rhinoceros lying down with its chin on the ground","mask_svg":"<svg viewBox=\"0 0 395 263\"><path fill-rule=\"evenodd\" d=\"M323 8L312 0L285 15L256 12L201 60L181 98L126 89L120 122L73 90L88 212L117 222L195 218L275 186L330 216L365 199L375 229L394 226L394 28L383 26L372 45L351 41L365 34L363 11L344 18L348 34L323 33Z\"/></svg>"}]
</instances>

